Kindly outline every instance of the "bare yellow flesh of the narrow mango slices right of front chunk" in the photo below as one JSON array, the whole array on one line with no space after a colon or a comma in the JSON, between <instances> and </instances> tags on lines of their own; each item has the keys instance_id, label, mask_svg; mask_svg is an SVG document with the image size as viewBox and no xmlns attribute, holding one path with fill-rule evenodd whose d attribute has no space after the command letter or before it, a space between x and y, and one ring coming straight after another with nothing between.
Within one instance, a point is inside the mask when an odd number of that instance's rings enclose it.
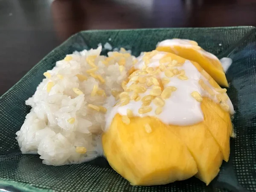
<instances>
[{"instance_id":1,"label":"bare yellow flesh of the narrow mango slices right of front chunk","mask_svg":"<svg viewBox=\"0 0 256 192\"><path fill-rule=\"evenodd\" d=\"M223 153L221 151L224 151L228 159L230 150L227 124L219 116L212 114L214 111L208 108L208 102L211 102L212 105L218 105L212 103L211 100L203 99L201 105L205 115L203 122L186 127L169 126L186 143L197 163L198 173L196 177L207 185L219 172L219 167L223 160ZM220 119L222 120L221 123L216 122L216 120ZM224 136L221 135L222 133ZM220 145L223 150L221 150Z\"/></svg>"}]
</instances>

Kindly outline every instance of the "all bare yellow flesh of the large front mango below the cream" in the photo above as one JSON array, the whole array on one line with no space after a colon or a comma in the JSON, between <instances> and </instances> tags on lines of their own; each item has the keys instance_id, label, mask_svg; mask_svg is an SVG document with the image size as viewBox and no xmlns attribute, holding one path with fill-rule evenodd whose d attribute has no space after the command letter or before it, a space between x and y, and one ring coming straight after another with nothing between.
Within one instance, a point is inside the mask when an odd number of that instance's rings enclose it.
<instances>
[{"instance_id":1,"label":"all bare yellow flesh of the large front mango below the cream","mask_svg":"<svg viewBox=\"0 0 256 192\"><path fill-rule=\"evenodd\" d=\"M102 136L108 162L133 185L160 185L193 175L209 184L230 150L228 124L209 105L218 104L203 99L207 120L186 127L165 125L149 116L131 118L126 125L116 114ZM145 131L147 123L151 133Z\"/></svg>"}]
</instances>

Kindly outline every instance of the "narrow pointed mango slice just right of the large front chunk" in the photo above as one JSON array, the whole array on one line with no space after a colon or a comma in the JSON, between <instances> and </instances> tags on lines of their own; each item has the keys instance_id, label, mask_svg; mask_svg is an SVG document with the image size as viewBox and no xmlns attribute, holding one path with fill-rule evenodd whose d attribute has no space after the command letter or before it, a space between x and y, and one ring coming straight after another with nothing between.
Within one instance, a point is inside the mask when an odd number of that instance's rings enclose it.
<instances>
[{"instance_id":1,"label":"narrow pointed mango slice just right of the large front chunk","mask_svg":"<svg viewBox=\"0 0 256 192\"><path fill-rule=\"evenodd\" d=\"M186 127L170 125L169 128L186 143L197 163L196 177L208 185L218 174L223 156L207 126L199 123Z\"/></svg>"}]
</instances>

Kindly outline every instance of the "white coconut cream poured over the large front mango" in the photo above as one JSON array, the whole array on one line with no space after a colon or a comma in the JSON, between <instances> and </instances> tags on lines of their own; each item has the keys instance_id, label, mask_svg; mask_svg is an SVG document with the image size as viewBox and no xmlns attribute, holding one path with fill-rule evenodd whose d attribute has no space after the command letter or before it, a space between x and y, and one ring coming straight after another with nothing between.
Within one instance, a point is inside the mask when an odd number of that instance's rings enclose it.
<instances>
[{"instance_id":1,"label":"white coconut cream poured over the large front mango","mask_svg":"<svg viewBox=\"0 0 256 192\"><path fill-rule=\"evenodd\" d=\"M154 57L150 59L150 63L147 65L148 67L157 67L160 65L159 60L164 55L166 55L166 52L158 52ZM143 55L138 57L138 63L134 66L136 69L141 70L144 66L144 61L142 60ZM175 67L178 70L184 70L185 75L189 78L187 80L181 80L178 79L177 76L173 76L170 79L170 82L168 84L165 84L164 87L176 87L177 90L172 92L172 95L169 99L165 99L165 105L163 106L163 112L159 115L155 114L155 110L157 108L156 105L154 105L153 102L149 106L151 106L152 110L148 113L140 114L138 111L142 107L142 101L141 99L139 101L131 100L128 105L120 106L119 104L114 106L111 110L108 110L106 113L106 128L108 128L111 125L113 117L119 113L120 115L124 116L127 115L127 109L130 109L134 116L156 116L158 119L160 119L162 122L166 124L172 124L172 125L194 125L198 122L201 122L204 120L204 114L201 110L201 102L198 102L195 98L191 96L191 93L193 91L197 91L200 93L202 97L208 97L212 99L214 102L218 102L216 98L216 94L218 92L215 91L214 87L209 84L209 81L204 78L204 76L201 75L201 73L197 70L197 68L189 61L186 60L185 63L181 67ZM163 78L166 77L164 72L161 72L158 77ZM166 77L167 78L167 77ZM214 93L215 96L209 95L207 91L205 91L198 83L199 79L203 79L204 83L207 84L208 87L210 87ZM129 81L127 84L127 87L131 85L133 82ZM138 84L140 85L140 83ZM145 86L145 85L144 85ZM141 98L143 96L149 95L150 90L152 87L147 87L147 90L145 93L139 94ZM130 96L133 92L130 92ZM225 93L226 94L226 93ZM111 99L110 99L111 100ZM114 98L112 98L112 101L114 102ZM234 108L232 105L232 102L228 98L227 104L230 107L230 113L234 113Z\"/></svg>"}]
</instances>

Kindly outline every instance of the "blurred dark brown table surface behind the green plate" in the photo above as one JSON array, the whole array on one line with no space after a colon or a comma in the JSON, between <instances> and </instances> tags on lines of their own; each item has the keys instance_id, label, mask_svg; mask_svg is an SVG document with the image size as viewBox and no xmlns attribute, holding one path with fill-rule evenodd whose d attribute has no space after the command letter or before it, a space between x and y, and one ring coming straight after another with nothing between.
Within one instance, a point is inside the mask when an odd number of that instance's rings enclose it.
<instances>
[{"instance_id":1,"label":"blurred dark brown table surface behind the green plate","mask_svg":"<svg viewBox=\"0 0 256 192\"><path fill-rule=\"evenodd\" d=\"M0 0L0 96L89 29L256 26L256 0Z\"/></svg>"}]
</instances>

